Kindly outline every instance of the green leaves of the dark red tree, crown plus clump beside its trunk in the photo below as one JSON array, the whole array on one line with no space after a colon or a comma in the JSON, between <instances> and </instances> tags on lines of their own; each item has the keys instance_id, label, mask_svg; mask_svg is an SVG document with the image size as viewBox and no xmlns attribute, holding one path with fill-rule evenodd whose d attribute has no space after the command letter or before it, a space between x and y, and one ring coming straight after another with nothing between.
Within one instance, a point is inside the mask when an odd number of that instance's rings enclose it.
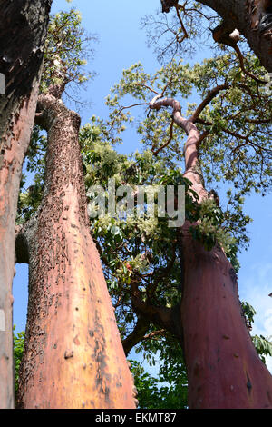
<instances>
[{"instance_id":1,"label":"green leaves of the dark red tree, crown plus clump beside its trunk","mask_svg":"<svg viewBox=\"0 0 272 427\"><path fill-rule=\"evenodd\" d=\"M247 64L260 78L265 76L253 55L247 55ZM111 109L109 125L114 128L135 120L131 118L131 107L121 103L149 105L156 94L179 100L182 115L190 116L196 104L187 103L187 112L183 113L184 101L197 92L200 103L219 84L228 84L228 88L213 97L197 121L200 132L209 131L199 148L199 158L209 187L218 188L221 184L224 188L226 183L231 187L223 195L225 208L212 207L208 201L209 213L203 216L204 203L201 209L187 209L187 214L195 213L189 218L191 222L199 220L191 227L194 238L208 250L221 244L238 272L238 251L248 247L247 225L251 221L243 214L244 196L251 191L266 194L271 184L271 99L260 91L257 82L241 74L237 61L228 53L204 60L201 65L183 65L182 61L172 60L153 75L137 63L123 71L120 82L112 87L107 98ZM180 166L180 143L185 134L174 125L170 138L170 111L151 110L145 118L140 115L136 124L141 143L152 153L165 145L156 159L163 158L168 170L175 170L176 164Z\"/></svg>"}]
</instances>

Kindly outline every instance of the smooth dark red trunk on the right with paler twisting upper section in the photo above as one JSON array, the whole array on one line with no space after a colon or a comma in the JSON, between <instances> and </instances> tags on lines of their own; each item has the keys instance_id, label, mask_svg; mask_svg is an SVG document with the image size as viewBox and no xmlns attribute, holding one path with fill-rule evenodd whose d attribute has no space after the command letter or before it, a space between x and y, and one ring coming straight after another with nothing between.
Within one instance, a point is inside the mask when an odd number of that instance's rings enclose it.
<instances>
[{"instance_id":1,"label":"smooth dark red trunk on the right with paler twisting upper section","mask_svg":"<svg viewBox=\"0 0 272 427\"><path fill-rule=\"evenodd\" d=\"M182 122L179 121L180 124ZM200 175L200 135L183 124L186 173L199 202L207 197ZM218 246L207 252L182 228L184 283L180 305L188 371L189 408L272 408L272 376L251 341L238 301L236 273Z\"/></svg>"}]
</instances>

